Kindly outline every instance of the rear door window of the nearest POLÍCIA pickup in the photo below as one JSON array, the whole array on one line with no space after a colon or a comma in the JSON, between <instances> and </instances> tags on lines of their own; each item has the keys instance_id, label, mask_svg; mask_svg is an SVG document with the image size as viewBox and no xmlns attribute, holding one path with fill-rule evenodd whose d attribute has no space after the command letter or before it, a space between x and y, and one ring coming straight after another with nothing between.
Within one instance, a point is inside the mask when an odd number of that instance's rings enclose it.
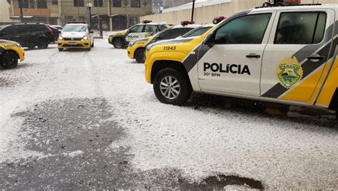
<instances>
[{"instance_id":1,"label":"rear door window of the nearest POL\u00cdCIA pickup","mask_svg":"<svg viewBox=\"0 0 338 191\"><path fill-rule=\"evenodd\" d=\"M323 12L282 13L275 44L312 44L324 38L327 14Z\"/></svg>"}]
</instances>

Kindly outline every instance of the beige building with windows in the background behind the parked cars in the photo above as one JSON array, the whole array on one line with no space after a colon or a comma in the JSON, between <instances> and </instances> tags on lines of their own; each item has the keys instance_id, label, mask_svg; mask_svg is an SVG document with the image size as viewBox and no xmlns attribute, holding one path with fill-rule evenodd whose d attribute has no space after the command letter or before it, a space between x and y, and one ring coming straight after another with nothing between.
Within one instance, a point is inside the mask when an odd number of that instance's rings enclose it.
<instances>
[{"instance_id":1,"label":"beige building with windows in the background behind the parked cars","mask_svg":"<svg viewBox=\"0 0 338 191\"><path fill-rule=\"evenodd\" d=\"M20 6L24 22L64 25L68 21L88 21L91 4L93 26L99 22L103 29L126 29L137 24L140 16L151 13L152 0L11 0L10 14L14 22L20 21ZM110 24L110 18L112 24Z\"/></svg>"}]
</instances>

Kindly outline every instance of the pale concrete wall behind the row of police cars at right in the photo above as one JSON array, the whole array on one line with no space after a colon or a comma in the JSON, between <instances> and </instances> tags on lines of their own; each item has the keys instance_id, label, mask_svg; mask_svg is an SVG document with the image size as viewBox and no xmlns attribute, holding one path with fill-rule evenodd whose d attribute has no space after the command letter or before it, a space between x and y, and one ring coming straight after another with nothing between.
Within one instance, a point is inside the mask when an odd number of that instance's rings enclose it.
<instances>
[{"instance_id":1,"label":"pale concrete wall behind the row of police cars at right","mask_svg":"<svg viewBox=\"0 0 338 191\"><path fill-rule=\"evenodd\" d=\"M262 4L266 1L267 0L231 0L230 3L199 7L195 9L194 20L196 24L210 23L215 16L230 16L244 9L262 6ZM338 0L302 0L302 4L312 3L337 4ZM180 21L191 19L191 9L140 17L140 21L145 19L151 20L153 22L180 24Z\"/></svg>"}]
</instances>

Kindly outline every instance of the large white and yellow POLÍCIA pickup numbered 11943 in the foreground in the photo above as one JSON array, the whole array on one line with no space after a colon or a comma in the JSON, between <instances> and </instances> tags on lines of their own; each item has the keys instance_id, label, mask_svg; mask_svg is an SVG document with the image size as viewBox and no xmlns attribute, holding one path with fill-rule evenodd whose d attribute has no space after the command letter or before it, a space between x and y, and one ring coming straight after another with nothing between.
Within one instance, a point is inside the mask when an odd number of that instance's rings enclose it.
<instances>
[{"instance_id":1,"label":"large white and yellow POL\u00cdCIA pickup numbered 11943 in the foreground","mask_svg":"<svg viewBox=\"0 0 338 191\"><path fill-rule=\"evenodd\" d=\"M192 91L338 109L338 4L241 11L209 33L148 46L145 78L162 103Z\"/></svg>"}]
</instances>

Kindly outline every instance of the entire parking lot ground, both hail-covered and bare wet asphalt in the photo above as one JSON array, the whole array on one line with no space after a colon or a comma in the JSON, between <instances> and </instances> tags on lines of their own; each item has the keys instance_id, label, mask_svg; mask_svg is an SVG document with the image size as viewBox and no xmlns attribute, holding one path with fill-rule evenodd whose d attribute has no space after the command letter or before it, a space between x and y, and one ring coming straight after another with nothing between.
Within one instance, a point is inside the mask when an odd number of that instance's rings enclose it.
<instances>
[{"instance_id":1,"label":"entire parking lot ground, both hail-covered and bare wet asphalt","mask_svg":"<svg viewBox=\"0 0 338 191\"><path fill-rule=\"evenodd\" d=\"M329 110L199 93L165 105L106 38L53 44L0 70L0 189L335 190L337 124Z\"/></svg>"}]
</instances>

